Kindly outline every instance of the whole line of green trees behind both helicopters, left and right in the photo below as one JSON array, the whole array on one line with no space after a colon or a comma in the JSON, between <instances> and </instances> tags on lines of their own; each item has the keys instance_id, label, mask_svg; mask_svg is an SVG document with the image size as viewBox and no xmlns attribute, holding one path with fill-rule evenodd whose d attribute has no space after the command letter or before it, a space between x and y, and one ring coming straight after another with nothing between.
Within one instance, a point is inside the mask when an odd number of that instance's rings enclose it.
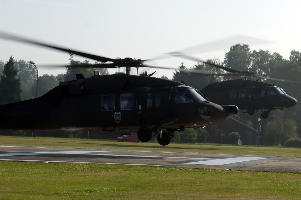
<instances>
[{"instance_id":1,"label":"whole line of green trees behind both helicopters, left and right","mask_svg":"<svg viewBox=\"0 0 301 200\"><path fill-rule=\"evenodd\" d=\"M98 62L96 62L98 63ZM208 76L194 73L195 70L207 70L212 72L224 72L213 67L212 64L232 68L238 71L250 70L259 76L272 77L284 80L299 81L301 72L301 53L292 50L289 59L284 59L279 53L271 53L268 50L251 51L247 44L236 44L231 46L229 52L225 53L225 58L220 61L218 58L207 59L205 63L197 63L192 67L186 67L184 62L178 67L179 70L173 72L172 79L184 81L185 84L198 90L203 89L211 82L220 82L228 79L227 76ZM95 70L101 71L102 75L109 74L106 68L81 68L74 67L90 64L89 60L83 62L73 60L70 54L69 64L66 65L66 73L54 75L43 74L38 78L38 97L42 96L59 82L73 80L75 74L84 74L85 77L94 74ZM73 67L72 67L73 66ZM186 71L182 71L185 69ZM36 97L36 69L29 61L15 60L12 56L7 61L0 60L0 100L1 104L12 103L20 100L27 100ZM162 77L168 79L166 76ZM233 77L234 78L234 77ZM283 88L288 94L300 99L300 85L297 83L275 82L269 79L261 79L262 82L275 84ZM8 92L9 91L9 92ZM262 119L263 134L262 145L284 145L288 139L301 138L301 115L300 105L284 110L274 110L267 119ZM257 118L260 113L254 115L239 113L233 118L247 124L250 127L257 126ZM253 126L254 124L254 126ZM220 134L215 126L205 129L186 129L185 133L175 133L174 142L204 142L213 135ZM244 134L244 133L239 133ZM221 136L222 139L222 136Z\"/></svg>"}]
</instances>

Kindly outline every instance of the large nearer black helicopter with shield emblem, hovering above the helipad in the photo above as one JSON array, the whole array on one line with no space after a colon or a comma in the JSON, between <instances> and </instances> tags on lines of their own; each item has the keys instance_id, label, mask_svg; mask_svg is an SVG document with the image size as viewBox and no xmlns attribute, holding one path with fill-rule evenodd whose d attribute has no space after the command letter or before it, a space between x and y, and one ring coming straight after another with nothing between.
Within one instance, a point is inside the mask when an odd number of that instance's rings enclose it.
<instances>
[{"instance_id":1,"label":"large nearer black helicopter with shield emblem, hovering above the helipad","mask_svg":"<svg viewBox=\"0 0 301 200\"><path fill-rule=\"evenodd\" d=\"M131 67L151 67L144 60L111 59L0 34L6 39L47 46L108 64L86 67L126 67L126 74L95 75L61 82L45 95L0 106L0 129L113 131L138 129L141 142L155 134L168 145L176 130L205 127L237 114L237 106L219 106L184 83L130 75ZM81 66L82 67L82 66ZM166 131L162 132L162 129Z\"/></svg>"}]
</instances>

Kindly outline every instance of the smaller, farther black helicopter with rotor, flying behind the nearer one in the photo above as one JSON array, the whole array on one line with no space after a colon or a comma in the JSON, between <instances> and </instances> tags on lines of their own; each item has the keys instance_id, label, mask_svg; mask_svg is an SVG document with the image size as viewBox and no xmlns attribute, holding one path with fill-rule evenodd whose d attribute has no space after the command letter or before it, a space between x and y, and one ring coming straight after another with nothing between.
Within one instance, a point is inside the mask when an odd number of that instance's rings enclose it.
<instances>
[{"instance_id":1,"label":"smaller, farther black helicopter with rotor, flying behind the nearer one","mask_svg":"<svg viewBox=\"0 0 301 200\"><path fill-rule=\"evenodd\" d=\"M181 56L190 60L206 63L198 58L185 55L181 52L172 52L169 55ZM275 109L284 109L296 105L297 100L288 95L282 88L275 85L259 82L259 79L272 79L276 81L286 81L299 83L282 79L268 78L256 75L252 71L237 71L228 67L210 64L229 73L215 74L209 71L197 70L196 73L209 74L212 76L243 76L244 79L229 79L222 82L210 83L200 90L202 94L219 105L236 105L242 113L253 115L256 111L262 110L261 117L266 119L270 111ZM256 76L259 79L247 80L248 77Z\"/></svg>"}]
</instances>

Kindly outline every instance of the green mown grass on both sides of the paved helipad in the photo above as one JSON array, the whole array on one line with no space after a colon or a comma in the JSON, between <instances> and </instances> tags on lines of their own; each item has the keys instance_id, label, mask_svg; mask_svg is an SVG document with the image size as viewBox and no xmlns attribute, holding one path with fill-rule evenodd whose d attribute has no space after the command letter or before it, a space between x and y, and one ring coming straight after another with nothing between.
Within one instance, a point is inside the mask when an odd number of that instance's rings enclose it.
<instances>
[{"instance_id":1,"label":"green mown grass on both sides of the paved helipad","mask_svg":"<svg viewBox=\"0 0 301 200\"><path fill-rule=\"evenodd\" d=\"M300 148L0 136L0 145L300 157ZM0 147L1 149L1 147ZM300 199L301 173L0 162L0 199Z\"/></svg>"}]
</instances>

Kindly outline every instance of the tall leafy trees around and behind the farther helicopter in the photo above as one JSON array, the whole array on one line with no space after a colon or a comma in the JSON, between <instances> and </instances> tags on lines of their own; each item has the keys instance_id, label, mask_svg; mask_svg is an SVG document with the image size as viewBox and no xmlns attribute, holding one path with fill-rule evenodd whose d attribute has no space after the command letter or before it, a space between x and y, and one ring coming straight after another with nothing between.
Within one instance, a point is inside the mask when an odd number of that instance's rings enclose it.
<instances>
[{"instance_id":1,"label":"tall leafy trees around and behind the farther helicopter","mask_svg":"<svg viewBox=\"0 0 301 200\"><path fill-rule=\"evenodd\" d=\"M228 67L238 71L253 71L258 76L272 77L276 79L300 81L301 75L301 52L292 50L289 59L284 59L279 53L271 53L268 50L251 51L247 44L236 44L231 46L229 52L225 53L225 58L220 61L217 58L207 59L205 63L197 63L192 67L186 67L181 63L179 70L173 72L173 79L176 81L184 81L185 84L202 90L211 82L225 81L228 76L208 76L205 74L194 73L195 70L206 70L213 73L223 73L222 69L216 68L211 64ZM182 70L185 69L185 70ZM244 77L232 77L232 79ZM261 79L259 81L275 84L283 88L290 96L300 100L301 92L299 83L286 81L274 81L270 79ZM262 119L262 134L260 142L262 145L284 145L290 139L297 141L301 147L301 115L300 103L284 110L271 111L267 119ZM231 116L236 120L257 129L257 118L260 112L254 115L239 113ZM245 134L245 133L240 133Z\"/></svg>"}]
</instances>

